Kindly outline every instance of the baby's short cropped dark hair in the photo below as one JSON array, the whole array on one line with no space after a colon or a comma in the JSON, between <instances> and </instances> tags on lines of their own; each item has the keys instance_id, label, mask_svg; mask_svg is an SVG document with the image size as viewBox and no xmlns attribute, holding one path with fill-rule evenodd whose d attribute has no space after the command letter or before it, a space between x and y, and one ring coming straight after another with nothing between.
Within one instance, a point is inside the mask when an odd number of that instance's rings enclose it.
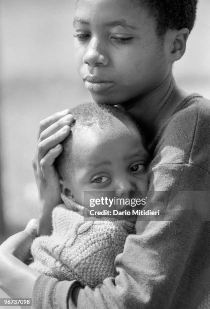
<instances>
[{"instance_id":1,"label":"baby's short cropped dark hair","mask_svg":"<svg viewBox=\"0 0 210 309\"><path fill-rule=\"evenodd\" d=\"M71 113L74 116L75 122L71 126L71 132L62 142L62 152L54 162L54 166L61 179L68 179L67 173L72 167L73 135L76 130L78 131L86 127L93 127L94 130L113 128L116 125L117 119L119 121L127 120L134 123L139 131L139 134L142 136L144 146L147 147L144 134L141 132L131 116L126 114L121 108L110 105L98 105L95 102L88 102L78 105L71 110Z\"/></svg>"}]
</instances>

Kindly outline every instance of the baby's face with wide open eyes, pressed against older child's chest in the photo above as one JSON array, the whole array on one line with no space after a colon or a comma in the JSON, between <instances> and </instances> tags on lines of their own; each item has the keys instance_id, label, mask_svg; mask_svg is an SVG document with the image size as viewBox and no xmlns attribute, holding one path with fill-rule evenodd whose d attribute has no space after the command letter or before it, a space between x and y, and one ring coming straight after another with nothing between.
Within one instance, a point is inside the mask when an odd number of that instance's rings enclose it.
<instances>
[{"instance_id":1,"label":"baby's face with wide open eyes, pressed against older child's chest","mask_svg":"<svg viewBox=\"0 0 210 309\"><path fill-rule=\"evenodd\" d=\"M84 191L96 191L95 197L129 198L148 190L149 153L132 123L75 131L72 157L73 168L64 186L80 204Z\"/></svg>"}]
</instances>

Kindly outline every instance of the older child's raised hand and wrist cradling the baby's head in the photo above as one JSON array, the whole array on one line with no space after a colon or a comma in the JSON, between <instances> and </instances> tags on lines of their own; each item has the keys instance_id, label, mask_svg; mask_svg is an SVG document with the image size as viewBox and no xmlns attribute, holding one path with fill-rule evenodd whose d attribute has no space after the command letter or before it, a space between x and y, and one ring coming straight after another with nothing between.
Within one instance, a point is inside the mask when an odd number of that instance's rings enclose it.
<instances>
[{"instance_id":1,"label":"older child's raised hand and wrist cradling the baby's head","mask_svg":"<svg viewBox=\"0 0 210 309\"><path fill-rule=\"evenodd\" d=\"M74 118L69 110L58 112L40 122L37 151L33 160L36 183L41 199L38 234L51 230L51 211L60 203L60 183L53 166L62 151L62 142L70 132Z\"/></svg>"}]
</instances>

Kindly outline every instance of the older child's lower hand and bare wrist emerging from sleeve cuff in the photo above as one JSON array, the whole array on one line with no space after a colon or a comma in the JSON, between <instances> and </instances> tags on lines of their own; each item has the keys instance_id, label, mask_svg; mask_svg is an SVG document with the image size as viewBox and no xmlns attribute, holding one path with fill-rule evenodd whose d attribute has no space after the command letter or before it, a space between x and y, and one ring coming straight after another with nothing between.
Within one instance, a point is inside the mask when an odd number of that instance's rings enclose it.
<instances>
[{"instance_id":1,"label":"older child's lower hand and bare wrist emerging from sleeve cuff","mask_svg":"<svg viewBox=\"0 0 210 309\"><path fill-rule=\"evenodd\" d=\"M31 220L24 231L9 237L0 246L0 288L11 297L32 297L34 282L40 274L22 261L29 256L36 229L36 222Z\"/></svg>"}]
</instances>

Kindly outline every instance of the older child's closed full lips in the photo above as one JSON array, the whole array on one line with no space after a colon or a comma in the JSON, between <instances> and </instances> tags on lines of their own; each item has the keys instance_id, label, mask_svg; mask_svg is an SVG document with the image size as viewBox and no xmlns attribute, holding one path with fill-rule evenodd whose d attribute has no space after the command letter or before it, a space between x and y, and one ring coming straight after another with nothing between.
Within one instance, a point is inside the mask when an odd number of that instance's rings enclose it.
<instances>
[{"instance_id":1,"label":"older child's closed full lips","mask_svg":"<svg viewBox=\"0 0 210 309\"><path fill-rule=\"evenodd\" d=\"M103 92L112 87L113 82L100 79L96 76L84 78L86 88L91 92Z\"/></svg>"}]
</instances>

